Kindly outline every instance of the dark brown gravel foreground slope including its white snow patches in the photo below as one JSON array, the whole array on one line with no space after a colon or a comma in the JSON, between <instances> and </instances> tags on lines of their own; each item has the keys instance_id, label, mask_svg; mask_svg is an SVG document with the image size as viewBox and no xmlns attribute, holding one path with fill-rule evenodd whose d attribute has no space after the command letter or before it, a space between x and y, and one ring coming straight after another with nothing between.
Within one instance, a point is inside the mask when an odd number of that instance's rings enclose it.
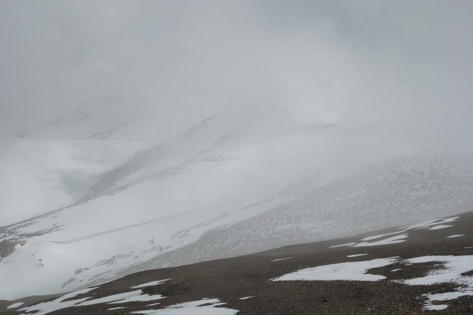
<instances>
[{"instance_id":1,"label":"dark brown gravel foreground slope including its white snow patches","mask_svg":"<svg viewBox=\"0 0 473 315\"><path fill-rule=\"evenodd\" d=\"M24 284L28 285L28 284ZM473 212L135 273L3 314L473 314Z\"/></svg>"}]
</instances>

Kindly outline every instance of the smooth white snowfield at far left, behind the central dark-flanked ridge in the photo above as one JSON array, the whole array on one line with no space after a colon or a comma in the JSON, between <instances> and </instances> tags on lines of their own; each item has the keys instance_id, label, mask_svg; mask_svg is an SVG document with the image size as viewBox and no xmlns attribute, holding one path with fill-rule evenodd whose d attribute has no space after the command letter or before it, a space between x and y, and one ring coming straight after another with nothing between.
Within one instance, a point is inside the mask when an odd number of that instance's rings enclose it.
<instances>
[{"instance_id":1,"label":"smooth white snowfield at far left, behind the central dark-flanked ridge","mask_svg":"<svg viewBox=\"0 0 473 315\"><path fill-rule=\"evenodd\" d=\"M0 137L0 225L65 207L84 197L101 174L146 144L98 139Z\"/></svg>"}]
</instances>

